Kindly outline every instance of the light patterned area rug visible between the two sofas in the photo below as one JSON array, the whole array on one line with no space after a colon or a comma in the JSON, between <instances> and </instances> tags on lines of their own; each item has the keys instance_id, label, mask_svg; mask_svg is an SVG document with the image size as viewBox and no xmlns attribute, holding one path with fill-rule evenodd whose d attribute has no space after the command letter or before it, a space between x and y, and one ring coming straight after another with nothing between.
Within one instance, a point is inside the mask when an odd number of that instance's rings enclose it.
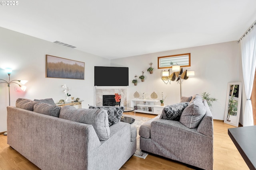
<instances>
[{"instance_id":1,"label":"light patterned area rug visible between the two sofas","mask_svg":"<svg viewBox=\"0 0 256 170\"><path fill-rule=\"evenodd\" d=\"M137 149L136 152L134 153L133 156L137 156L139 158L143 158L145 159L148 156L148 153L142 152L142 150L140 149L140 135L139 135L139 129L140 129L140 125L142 125L144 122L152 119L149 117L141 117L141 116L135 116L135 115L126 115L123 114L123 116L127 116L127 117L132 117L135 119L134 123L131 124L131 126L136 127L137 129Z\"/></svg>"}]
</instances>

